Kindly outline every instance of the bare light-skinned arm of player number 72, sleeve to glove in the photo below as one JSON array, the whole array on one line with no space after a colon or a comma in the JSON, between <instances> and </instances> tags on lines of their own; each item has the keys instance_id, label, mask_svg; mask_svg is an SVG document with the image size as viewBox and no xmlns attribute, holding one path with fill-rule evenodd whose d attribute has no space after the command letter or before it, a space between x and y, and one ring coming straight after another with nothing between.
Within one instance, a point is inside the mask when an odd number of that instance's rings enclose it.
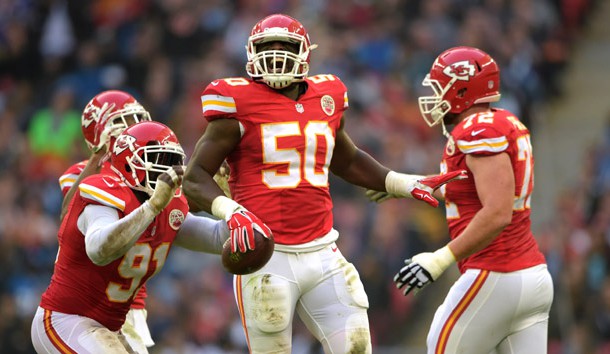
<instances>
[{"instance_id":1,"label":"bare light-skinned arm of player number 72, sleeve to glove","mask_svg":"<svg viewBox=\"0 0 610 354\"><path fill-rule=\"evenodd\" d=\"M464 259L489 245L510 224L513 215L515 178L510 157L466 156L482 208L464 232L449 243L456 260Z\"/></svg>"}]
</instances>

